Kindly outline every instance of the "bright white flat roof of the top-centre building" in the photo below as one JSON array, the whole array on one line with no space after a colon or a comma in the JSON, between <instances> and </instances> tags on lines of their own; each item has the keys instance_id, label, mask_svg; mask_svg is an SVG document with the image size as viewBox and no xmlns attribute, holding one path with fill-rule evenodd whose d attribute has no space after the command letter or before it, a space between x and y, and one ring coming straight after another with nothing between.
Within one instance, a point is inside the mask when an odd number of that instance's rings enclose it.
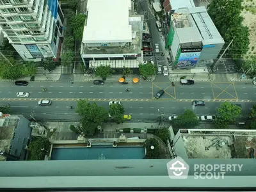
<instances>
[{"instance_id":1,"label":"bright white flat roof of the top-centre building","mask_svg":"<svg viewBox=\"0 0 256 192\"><path fill-rule=\"evenodd\" d=\"M83 43L131 42L131 0L88 0Z\"/></svg>"}]
</instances>

